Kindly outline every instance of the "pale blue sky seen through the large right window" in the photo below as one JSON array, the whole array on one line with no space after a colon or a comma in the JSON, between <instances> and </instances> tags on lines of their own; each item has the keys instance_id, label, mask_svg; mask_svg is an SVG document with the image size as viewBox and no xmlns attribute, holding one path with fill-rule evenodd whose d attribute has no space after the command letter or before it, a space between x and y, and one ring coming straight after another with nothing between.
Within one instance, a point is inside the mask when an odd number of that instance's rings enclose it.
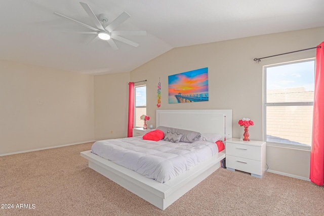
<instances>
[{"instance_id":1,"label":"pale blue sky seen through the large right window","mask_svg":"<svg viewBox=\"0 0 324 216\"><path fill-rule=\"evenodd\" d=\"M305 87L314 91L315 61L299 62L267 68L267 89Z\"/></svg>"}]
</instances>

